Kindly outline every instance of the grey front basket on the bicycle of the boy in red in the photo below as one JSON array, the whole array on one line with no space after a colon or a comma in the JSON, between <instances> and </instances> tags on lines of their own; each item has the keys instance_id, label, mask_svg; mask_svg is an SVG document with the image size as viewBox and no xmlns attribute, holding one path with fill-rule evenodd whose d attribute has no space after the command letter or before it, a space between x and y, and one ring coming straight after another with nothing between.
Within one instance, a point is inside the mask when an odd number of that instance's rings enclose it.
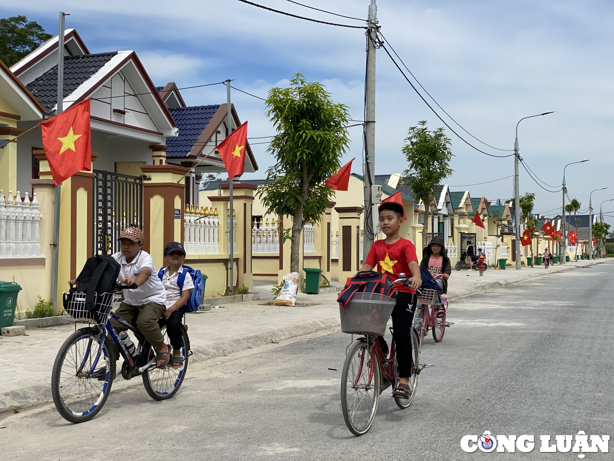
<instances>
[{"instance_id":1,"label":"grey front basket on the bicycle of the boy in red","mask_svg":"<svg viewBox=\"0 0 614 461\"><path fill-rule=\"evenodd\" d=\"M348 307L339 305L341 331L384 336L396 301L378 293L355 293Z\"/></svg>"}]
</instances>

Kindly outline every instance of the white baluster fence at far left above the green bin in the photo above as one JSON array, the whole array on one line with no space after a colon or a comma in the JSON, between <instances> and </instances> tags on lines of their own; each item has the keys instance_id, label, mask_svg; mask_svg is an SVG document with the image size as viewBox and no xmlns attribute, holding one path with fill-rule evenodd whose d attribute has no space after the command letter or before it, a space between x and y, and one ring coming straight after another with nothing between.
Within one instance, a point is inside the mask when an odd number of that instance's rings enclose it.
<instances>
[{"instance_id":1,"label":"white baluster fence at far left above the green bin","mask_svg":"<svg viewBox=\"0 0 614 461\"><path fill-rule=\"evenodd\" d=\"M0 189L0 258L39 258L41 256L41 213L34 192L30 202L28 192L23 202L20 192L5 200Z\"/></svg>"}]
</instances>

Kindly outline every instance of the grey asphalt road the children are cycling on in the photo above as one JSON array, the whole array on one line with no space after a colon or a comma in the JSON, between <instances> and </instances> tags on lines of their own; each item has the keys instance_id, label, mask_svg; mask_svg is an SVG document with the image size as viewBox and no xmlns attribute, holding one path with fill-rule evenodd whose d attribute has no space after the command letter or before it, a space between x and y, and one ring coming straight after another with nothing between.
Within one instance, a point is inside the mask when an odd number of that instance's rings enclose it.
<instances>
[{"instance_id":1,"label":"grey asphalt road the children are cycling on","mask_svg":"<svg viewBox=\"0 0 614 461\"><path fill-rule=\"evenodd\" d=\"M428 336L410 408L385 391L356 438L341 414L349 335L319 334L188 369L176 397L114 393L84 424L53 406L0 420L3 460L578 459L577 453L465 453L461 437L612 434L614 265L541 277L451 302L443 342ZM306 308L308 309L308 308ZM18 360L18 358L17 358ZM335 368L337 371L330 371ZM613 459L587 454L586 459Z\"/></svg>"}]
</instances>

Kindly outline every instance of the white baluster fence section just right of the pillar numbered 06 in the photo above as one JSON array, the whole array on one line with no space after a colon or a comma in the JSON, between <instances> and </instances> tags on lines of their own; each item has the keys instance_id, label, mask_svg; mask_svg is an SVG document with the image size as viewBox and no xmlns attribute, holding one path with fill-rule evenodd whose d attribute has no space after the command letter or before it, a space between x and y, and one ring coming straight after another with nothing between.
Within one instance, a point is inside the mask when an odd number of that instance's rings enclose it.
<instances>
[{"instance_id":1,"label":"white baluster fence section just right of the pillar numbered 06","mask_svg":"<svg viewBox=\"0 0 614 461\"><path fill-rule=\"evenodd\" d=\"M201 207L200 211L186 209L184 246L187 254L219 254L220 223L217 217L217 208L209 212L208 208Z\"/></svg>"}]
</instances>

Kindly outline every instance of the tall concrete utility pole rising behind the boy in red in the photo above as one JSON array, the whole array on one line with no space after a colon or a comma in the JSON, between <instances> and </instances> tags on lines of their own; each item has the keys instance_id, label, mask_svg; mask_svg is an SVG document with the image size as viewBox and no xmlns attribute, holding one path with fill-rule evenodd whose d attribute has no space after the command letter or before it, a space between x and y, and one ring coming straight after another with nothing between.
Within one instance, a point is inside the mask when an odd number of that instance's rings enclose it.
<instances>
[{"instance_id":1,"label":"tall concrete utility pole rising behind the boy in red","mask_svg":"<svg viewBox=\"0 0 614 461\"><path fill-rule=\"evenodd\" d=\"M365 259L375 240L371 186L375 184L375 44L378 31L377 15L376 0L371 0L367 16L367 74L365 76L365 175L363 179L365 193L363 254Z\"/></svg>"}]
</instances>

